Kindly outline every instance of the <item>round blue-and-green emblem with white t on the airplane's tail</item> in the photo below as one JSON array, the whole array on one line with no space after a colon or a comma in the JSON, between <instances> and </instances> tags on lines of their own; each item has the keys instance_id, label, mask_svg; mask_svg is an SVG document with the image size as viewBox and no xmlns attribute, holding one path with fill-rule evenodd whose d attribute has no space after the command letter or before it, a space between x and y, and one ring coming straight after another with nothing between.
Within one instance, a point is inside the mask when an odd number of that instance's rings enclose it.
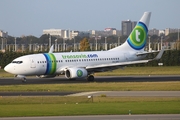
<instances>
[{"instance_id":1,"label":"round blue-and-green emblem with white t on the airplane's tail","mask_svg":"<svg viewBox=\"0 0 180 120\"><path fill-rule=\"evenodd\" d=\"M139 22L131 32L127 42L135 50L141 50L146 45L148 29L146 25Z\"/></svg>"}]
</instances>

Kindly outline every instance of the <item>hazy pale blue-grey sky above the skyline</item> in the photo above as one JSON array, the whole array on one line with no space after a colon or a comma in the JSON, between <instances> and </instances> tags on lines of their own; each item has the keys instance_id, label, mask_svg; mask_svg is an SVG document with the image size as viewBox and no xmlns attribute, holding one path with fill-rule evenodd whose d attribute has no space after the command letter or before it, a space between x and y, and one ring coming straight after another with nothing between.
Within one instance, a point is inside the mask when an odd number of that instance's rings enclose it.
<instances>
[{"instance_id":1,"label":"hazy pale blue-grey sky above the skyline","mask_svg":"<svg viewBox=\"0 0 180 120\"><path fill-rule=\"evenodd\" d=\"M180 0L0 0L0 30L41 36L43 29L121 29L151 11L149 28L180 28Z\"/></svg>"}]
</instances>

